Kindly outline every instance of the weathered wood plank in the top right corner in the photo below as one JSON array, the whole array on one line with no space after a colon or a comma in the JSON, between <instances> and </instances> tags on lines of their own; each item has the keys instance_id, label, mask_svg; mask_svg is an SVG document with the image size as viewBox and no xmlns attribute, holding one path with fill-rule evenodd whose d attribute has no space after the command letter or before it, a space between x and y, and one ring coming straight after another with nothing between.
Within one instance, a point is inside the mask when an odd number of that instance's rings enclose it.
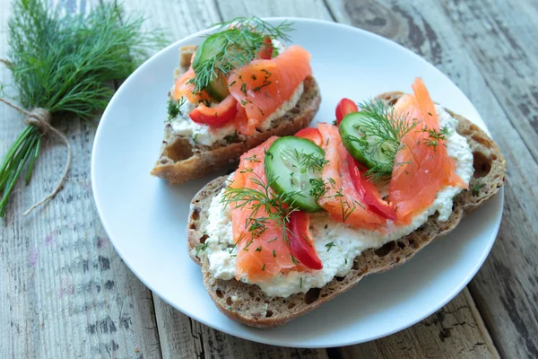
<instances>
[{"instance_id":1,"label":"weathered wood plank in the top right corner","mask_svg":"<svg viewBox=\"0 0 538 359\"><path fill-rule=\"evenodd\" d=\"M538 48L532 38L536 17L526 13L521 2L444 1L443 9L453 23L462 25L456 33L538 161Z\"/></svg>"}]
</instances>

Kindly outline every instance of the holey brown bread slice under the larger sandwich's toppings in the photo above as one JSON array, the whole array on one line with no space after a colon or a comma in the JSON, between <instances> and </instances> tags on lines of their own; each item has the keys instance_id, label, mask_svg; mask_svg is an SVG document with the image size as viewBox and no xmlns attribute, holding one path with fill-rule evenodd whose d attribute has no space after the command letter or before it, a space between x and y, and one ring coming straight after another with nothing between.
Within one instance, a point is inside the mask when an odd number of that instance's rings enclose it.
<instances>
[{"instance_id":1,"label":"holey brown bread slice under the larger sandwich's toppings","mask_svg":"<svg viewBox=\"0 0 538 359\"><path fill-rule=\"evenodd\" d=\"M394 104L403 92L386 92L377 98ZM288 298L273 298L262 292L256 285L246 285L236 280L215 279L209 273L207 259L202 262L191 249L204 243L207 226L207 208L221 188L226 186L226 177L220 177L207 184L193 198L187 225L188 249L191 258L202 266L204 285L219 310L232 320L237 320L257 328L271 328L293 320L299 315L312 311L324 302L333 299L364 276L398 267L411 259L419 250L436 237L451 232L467 215L492 197L505 180L506 162L499 147L482 129L469 120L450 112L459 120L457 132L467 139L473 151L475 169L469 190L461 192L454 200L454 211L447 222L439 222L432 215L418 230L398 241L390 241L384 246L366 250L355 258L351 272L344 277L336 277L323 288L313 288L308 293L296 293Z\"/></svg>"}]
</instances>

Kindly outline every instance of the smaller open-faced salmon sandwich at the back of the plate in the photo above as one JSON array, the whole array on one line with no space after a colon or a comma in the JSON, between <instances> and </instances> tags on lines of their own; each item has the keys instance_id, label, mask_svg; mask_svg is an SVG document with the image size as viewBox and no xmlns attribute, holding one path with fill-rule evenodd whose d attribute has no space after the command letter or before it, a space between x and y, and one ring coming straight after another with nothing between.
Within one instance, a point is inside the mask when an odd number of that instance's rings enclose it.
<instances>
[{"instance_id":1,"label":"smaller open-faced salmon sandwich at the back of the plate","mask_svg":"<svg viewBox=\"0 0 538 359\"><path fill-rule=\"evenodd\" d=\"M152 175L180 183L237 162L271 136L308 127L321 97L310 54L290 22L221 23L199 46L180 48L161 155Z\"/></svg>"}]
</instances>

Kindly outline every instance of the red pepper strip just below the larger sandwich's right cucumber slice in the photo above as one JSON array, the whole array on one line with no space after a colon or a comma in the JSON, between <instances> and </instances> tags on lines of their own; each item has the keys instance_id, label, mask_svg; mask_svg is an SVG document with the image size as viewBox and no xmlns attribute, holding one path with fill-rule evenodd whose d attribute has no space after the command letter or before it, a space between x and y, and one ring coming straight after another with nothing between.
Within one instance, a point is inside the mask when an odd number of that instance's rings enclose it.
<instances>
[{"instance_id":1,"label":"red pepper strip just below the larger sandwich's right cucumber slice","mask_svg":"<svg viewBox=\"0 0 538 359\"><path fill-rule=\"evenodd\" d=\"M350 153L347 153L347 161L353 186L357 193L359 193L359 196L364 200L365 205L368 206L368 209L377 213L377 215L395 221L396 213L394 206L386 203L381 198L376 185L364 177L364 173L367 170Z\"/></svg>"}]
</instances>

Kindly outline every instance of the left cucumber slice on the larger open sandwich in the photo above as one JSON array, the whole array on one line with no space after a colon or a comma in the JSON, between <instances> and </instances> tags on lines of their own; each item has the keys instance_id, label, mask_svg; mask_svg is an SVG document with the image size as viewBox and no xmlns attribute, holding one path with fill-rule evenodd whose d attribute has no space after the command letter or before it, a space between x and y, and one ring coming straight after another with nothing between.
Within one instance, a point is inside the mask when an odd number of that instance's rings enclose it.
<instances>
[{"instance_id":1,"label":"left cucumber slice on the larger open sandwich","mask_svg":"<svg viewBox=\"0 0 538 359\"><path fill-rule=\"evenodd\" d=\"M321 180L325 165L325 151L306 138L281 137L274 141L265 155L265 176L270 186L285 198L290 206L305 212L317 212L319 191L313 190L313 180Z\"/></svg>"}]
</instances>

